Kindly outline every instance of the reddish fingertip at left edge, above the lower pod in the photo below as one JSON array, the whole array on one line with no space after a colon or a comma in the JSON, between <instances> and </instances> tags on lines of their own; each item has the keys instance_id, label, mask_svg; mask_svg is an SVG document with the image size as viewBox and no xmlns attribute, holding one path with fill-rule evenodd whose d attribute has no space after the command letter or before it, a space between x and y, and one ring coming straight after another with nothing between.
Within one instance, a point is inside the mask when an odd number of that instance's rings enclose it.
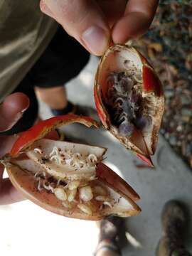
<instances>
[{"instance_id":1,"label":"reddish fingertip at left edge, above the lower pod","mask_svg":"<svg viewBox=\"0 0 192 256\"><path fill-rule=\"evenodd\" d=\"M0 132L11 129L22 117L28 105L28 97L21 92L7 96L0 105Z\"/></svg>"}]
</instances>

